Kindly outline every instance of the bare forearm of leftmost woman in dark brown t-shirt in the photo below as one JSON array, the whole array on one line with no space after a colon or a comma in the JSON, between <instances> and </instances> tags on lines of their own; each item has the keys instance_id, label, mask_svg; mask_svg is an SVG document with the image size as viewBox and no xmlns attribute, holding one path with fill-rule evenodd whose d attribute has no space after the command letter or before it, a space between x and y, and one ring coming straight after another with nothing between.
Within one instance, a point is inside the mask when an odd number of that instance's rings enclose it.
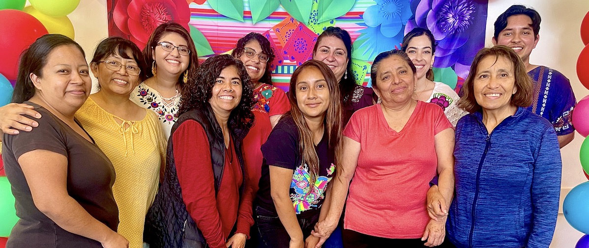
<instances>
[{"instance_id":1,"label":"bare forearm of leftmost woman in dark brown t-shirt","mask_svg":"<svg viewBox=\"0 0 589 248\"><path fill-rule=\"evenodd\" d=\"M37 203L35 203L37 205ZM56 197L54 201L38 206L38 209L53 220L59 227L88 239L105 243L118 235L104 223L92 217L70 196Z\"/></svg>"}]
</instances>

